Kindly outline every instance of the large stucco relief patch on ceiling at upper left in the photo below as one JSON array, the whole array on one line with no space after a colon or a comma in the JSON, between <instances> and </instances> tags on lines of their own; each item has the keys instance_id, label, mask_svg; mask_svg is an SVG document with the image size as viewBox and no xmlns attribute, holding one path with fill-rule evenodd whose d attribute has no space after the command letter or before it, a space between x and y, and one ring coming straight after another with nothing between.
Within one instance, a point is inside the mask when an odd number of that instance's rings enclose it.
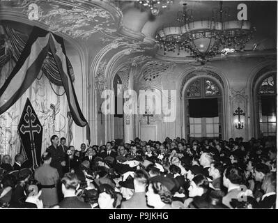
<instances>
[{"instance_id":1,"label":"large stucco relief patch on ceiling at upper left","mask_svg":"<svg viewBox=\"0 0 278 223\"><path fill-rule=\"evenodd\" d=\"M88 39L97 31L105 33L116 32L116 23L111 14L102 8L97 8L81 1L18 1L21 8L29 15L29 4L36 3L39 10L39 22L47 25L49 31L61 32L72 38Z\"/></svg>"}]
</instances>

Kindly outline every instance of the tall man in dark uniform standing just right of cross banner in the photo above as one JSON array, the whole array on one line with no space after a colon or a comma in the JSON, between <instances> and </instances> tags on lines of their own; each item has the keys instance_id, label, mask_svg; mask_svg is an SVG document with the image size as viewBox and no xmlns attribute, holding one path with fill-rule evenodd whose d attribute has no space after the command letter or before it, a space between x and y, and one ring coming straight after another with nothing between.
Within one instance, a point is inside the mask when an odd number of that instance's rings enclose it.
<instances>
[{"instance_id":1,"label":"tall man in dark uniform standing just right of cross banner","mask_svg":"<svg viewBox=\"0 0 278 223\"><path fill-rule=\"evenodd\" d=\"M52 154L52 162L50 163L50 166L57 169L60 178L63 177L63 167L65 167L65 153L63 153L62 148L59 148L59 138L55 134L51 137L51 143L52 145L49 146L46 150L46 152L49 152Z\"/></svg>"}]
</instances>

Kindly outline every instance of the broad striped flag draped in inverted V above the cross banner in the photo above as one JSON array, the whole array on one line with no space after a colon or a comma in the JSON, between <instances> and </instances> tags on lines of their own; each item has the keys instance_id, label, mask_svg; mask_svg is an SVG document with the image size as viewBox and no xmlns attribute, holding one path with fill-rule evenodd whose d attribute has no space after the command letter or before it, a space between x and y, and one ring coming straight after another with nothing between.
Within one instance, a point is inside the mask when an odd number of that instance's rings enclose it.
<instances>
[{"instance_id":1,"label":"broad striped flag draped in inverted V above the cross banner","mask_svg":"<svg viewBox=\"0 0 278 223\"><path fill-rule=\"evenodd\" d=\"M78 126L86 126L87 140L90 142L90 129L75 95L63 38L38 27L33 28L19 61L0 89L0 114L6 112L31 86L49 51L54 55L59 69L72 119Z\"/></svg>"}]
</instances>

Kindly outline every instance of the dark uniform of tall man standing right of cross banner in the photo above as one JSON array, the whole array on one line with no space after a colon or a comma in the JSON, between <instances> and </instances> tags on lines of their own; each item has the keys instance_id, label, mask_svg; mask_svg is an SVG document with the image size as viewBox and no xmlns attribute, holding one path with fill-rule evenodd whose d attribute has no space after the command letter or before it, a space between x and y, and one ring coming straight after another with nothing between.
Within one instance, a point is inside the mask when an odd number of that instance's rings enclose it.
<instances>
[{"instance_id":1,"label":"dark uniform of tall man standing right of cross banner","mask_svg":"<svg viewBox=\"0 0 278 223\"><path fill-rule=\"evenodd\" d=\"M59 146L55 148L53 145L51 145L46 151L51 153L52 156L50 166L56 168L60 178L63 178L63 167L61 165L61 162L65 161L65 153L63 153L63 149L59 148Z\"/></svg>"}]
</instances>

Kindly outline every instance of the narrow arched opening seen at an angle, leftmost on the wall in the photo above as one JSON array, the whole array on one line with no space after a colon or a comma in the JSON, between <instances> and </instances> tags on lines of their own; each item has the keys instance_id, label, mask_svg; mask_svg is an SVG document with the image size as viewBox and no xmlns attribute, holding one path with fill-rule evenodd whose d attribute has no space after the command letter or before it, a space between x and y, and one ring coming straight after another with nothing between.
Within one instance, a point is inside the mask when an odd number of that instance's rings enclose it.
<instances>
[{"instance_id":1,"label":"narrow arched opening seen at an angle, leftmost on the wall","mask_svg":"<svg viewBox=\"0 0 278 223\"><path fill-rule=\"evenodd\" d=\"M117 143L124 142L124 121L123 121L123 82L116 75L113 82L115 94L115 112L114 112L114 140Z\"/></svg>"}]
</instances>

